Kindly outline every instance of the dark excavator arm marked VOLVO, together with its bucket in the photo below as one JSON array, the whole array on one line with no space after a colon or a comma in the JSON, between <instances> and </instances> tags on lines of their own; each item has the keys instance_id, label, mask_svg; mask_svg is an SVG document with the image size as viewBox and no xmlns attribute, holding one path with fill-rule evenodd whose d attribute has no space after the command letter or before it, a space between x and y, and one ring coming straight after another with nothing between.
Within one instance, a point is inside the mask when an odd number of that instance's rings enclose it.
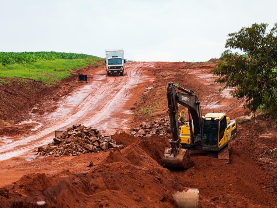
<instances>
[{"instance_id":1,"label":"dark excavator arm marked VOLVO, together with its bucket","mask_svg":"<svg viewBox=\"0 0 277 208\"><path fill-rule=\"evenodd\" d=\"M184 93L177 93L175 88ZM180 86L168 83L167 85L167 101L168 113L170 117L170 132L172 139L170 140L171 148L166 148L163 156L163 163L167 167L189 168L191 160L187 149L182 149L179 136L179 120L178 120L178 103L187 107L189 117L191 115L194 122L194 132L191 130L192 141L201 137L202 113L200 102L192 90L186 90ZM189 124L192 129L191 119ZM201 139L201 138L200 138Z\"/></svg>"}]
</instances>

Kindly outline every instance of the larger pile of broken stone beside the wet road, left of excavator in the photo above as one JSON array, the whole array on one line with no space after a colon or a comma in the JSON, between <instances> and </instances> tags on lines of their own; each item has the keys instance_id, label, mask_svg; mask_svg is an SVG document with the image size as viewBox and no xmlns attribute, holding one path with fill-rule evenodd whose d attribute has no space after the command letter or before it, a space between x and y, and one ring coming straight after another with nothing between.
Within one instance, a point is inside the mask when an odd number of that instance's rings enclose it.
<instances>
[{"instance_id":1,"label":"larger pile of broken stone beside the wet road, left of excavator","mask_svg":"<svg viewBox=\"0 0 277 208\"><path fill-rule=\"evenodd\" d=\"M45 147L38 148L39 155L59 157L62 155L75 156L84 153L123 149L123 145L116 145L116 141L110 136L104 136L97 129L86 127L81 124L73 125L59 134L54 142Z\"/></svg>"}]
</instances>

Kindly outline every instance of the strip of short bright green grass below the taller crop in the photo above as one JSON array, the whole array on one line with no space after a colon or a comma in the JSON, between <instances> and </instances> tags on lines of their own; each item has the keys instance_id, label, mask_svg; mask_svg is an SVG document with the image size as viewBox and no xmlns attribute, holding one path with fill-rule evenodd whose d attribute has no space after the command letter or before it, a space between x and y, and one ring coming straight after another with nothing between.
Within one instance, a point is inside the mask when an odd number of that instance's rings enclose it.
<instances>
[{"instance_id":1,"label":"strip of short bright green grass below the taller crop","mask_svg":"<svg viewBox=\"0 0 277 208\"><path fill-rule=\"evenodd\" d=\"M94 64L102 58L44 60L27 64L0 66L0 77L29 78L48 84L55 84L72 73L69 70L80 69Z\"/></svg>"}]
</instances>

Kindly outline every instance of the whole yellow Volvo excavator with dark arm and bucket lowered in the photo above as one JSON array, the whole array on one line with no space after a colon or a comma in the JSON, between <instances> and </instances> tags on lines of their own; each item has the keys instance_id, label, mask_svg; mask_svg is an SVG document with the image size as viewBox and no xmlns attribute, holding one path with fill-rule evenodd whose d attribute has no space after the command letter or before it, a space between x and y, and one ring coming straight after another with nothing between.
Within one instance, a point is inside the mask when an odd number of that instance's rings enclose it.
<instances>
[{"instance_id":1,"label":"whole yellow Volvo excavator with dark arm and bucket lowered","mask_svg":"<svg viewBox=\"0 0 277 208\"><path fill-rule=\"evenodd\" d=\"M175 88L182 92L176 92ZM190 157L206 155L229 163L228 143L237 136L235 120L226 113L207 113L202 116L200 101L192 90L169 82L167 85L168 113L170 117L171 148L163 155L165 167L189 168ZM188 108L178 115L178 104ZM183 113L183 115L182 115ZM179 133L181 121L181 134Z\"/></svg>"}]
</instances>

